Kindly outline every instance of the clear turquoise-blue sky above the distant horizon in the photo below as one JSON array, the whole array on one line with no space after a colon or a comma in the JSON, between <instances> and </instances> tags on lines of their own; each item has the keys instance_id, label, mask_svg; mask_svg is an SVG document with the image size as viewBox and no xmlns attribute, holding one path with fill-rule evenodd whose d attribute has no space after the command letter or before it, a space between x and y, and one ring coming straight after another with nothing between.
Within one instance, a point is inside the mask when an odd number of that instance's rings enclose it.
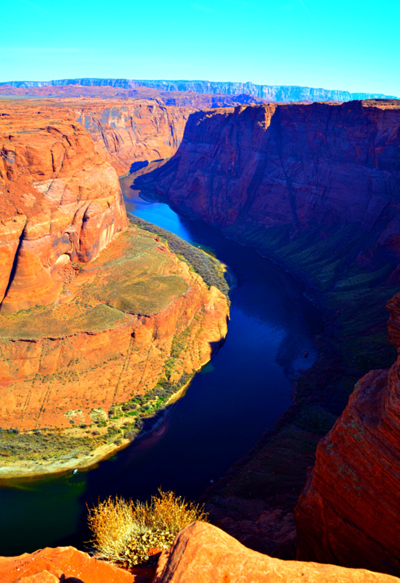
<instances>
[{"instance_id":1,"label":"clear turquoise-blue sky above the distant horizon","mask_svg":"<svg viewBox=\"0 0 400 583\"><path fill-rule=\"evenodd\" d=\"M400 0L5 0L0 81L208 79L400 96Z\"/></svg>"}]
</instances>

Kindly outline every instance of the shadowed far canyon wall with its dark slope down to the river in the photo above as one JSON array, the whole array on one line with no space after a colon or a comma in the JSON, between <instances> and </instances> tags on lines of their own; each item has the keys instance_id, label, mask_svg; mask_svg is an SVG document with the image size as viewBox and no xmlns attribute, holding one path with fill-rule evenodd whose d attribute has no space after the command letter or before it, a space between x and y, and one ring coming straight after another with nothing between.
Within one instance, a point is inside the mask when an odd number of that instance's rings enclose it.
<instances>
[{"instance_id":1,"label":"shadowed far canyon wall with its dark slope down to the river","mask_svg":"<svg viewBox=\"0 0 400 583\"><path fill-rule=\"evenodd\" d=\"M399 127L398 101L199 112L173 159L135 181L277 259L325 312L320 360L294 380L293 408L205 496L213 521L255 549L290 558L276 543L285 530L293 543L290 513L318 438L355 382L392 362L384 304L399 283Z\"/></svg>"}]
</instances>

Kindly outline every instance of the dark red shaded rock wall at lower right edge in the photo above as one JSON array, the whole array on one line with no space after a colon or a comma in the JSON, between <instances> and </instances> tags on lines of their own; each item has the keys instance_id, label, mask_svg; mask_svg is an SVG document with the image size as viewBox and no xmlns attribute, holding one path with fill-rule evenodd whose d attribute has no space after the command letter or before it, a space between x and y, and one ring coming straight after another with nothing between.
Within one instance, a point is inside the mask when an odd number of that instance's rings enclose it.
<instances>
[{"instance_id":1,"label":"dark red shaded rock wall at lower right edge","mask_svg":"<svg viewBox=\"0 0 400 583\"><path fill-rule=\"evenodd\" d=\"M388 308L399 350L400 294ZM400 357L366 374L318 445L296 508L299 559L400 574L399 373Z\"/></svg>"}]
</instances>

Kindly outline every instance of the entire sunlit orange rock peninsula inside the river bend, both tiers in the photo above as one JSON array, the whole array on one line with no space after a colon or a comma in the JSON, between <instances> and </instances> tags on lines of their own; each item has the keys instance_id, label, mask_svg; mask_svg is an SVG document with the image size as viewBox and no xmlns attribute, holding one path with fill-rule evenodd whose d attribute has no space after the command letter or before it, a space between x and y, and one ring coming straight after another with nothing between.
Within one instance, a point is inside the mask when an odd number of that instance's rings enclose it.
<instances>
[{"instance_id":1,"label":"entire sunlit orange rock peninsula inside the river bend, both tiers","mask_svg":"<svg viewBox=\"0 0 400 583\"><path fill-rule=\"evenodd\" d=\"M129 442L226 335L226 296L128 224L108 152L76 115L2 107L2 475Z\"/></svg>"}]
</instances>

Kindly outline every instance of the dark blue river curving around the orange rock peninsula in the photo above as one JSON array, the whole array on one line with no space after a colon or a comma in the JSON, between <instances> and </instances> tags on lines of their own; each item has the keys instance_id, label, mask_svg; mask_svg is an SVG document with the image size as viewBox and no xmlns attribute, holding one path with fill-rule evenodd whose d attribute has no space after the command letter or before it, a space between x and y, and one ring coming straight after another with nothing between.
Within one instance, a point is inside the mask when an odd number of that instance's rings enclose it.
<instances>
[{"instance_id":1,"label":"dark blue river curving around the orange rock peninsula","mask_svg":"<svg viewBox=\"0 0 400 583\"><path fill-rule=\"evenodd\" d=\"M226 342L153 434L75 476L2 482L0 555L69 544L84 549L86 504L109 494L146 499L161 485L199 496L273 427L291 403L288 375L315 360L321 316L290 275L167 205L142 201L130 185L131 178L121 179L130 212L207 248L234 272Z\"/></svg>"}]
</instances>

